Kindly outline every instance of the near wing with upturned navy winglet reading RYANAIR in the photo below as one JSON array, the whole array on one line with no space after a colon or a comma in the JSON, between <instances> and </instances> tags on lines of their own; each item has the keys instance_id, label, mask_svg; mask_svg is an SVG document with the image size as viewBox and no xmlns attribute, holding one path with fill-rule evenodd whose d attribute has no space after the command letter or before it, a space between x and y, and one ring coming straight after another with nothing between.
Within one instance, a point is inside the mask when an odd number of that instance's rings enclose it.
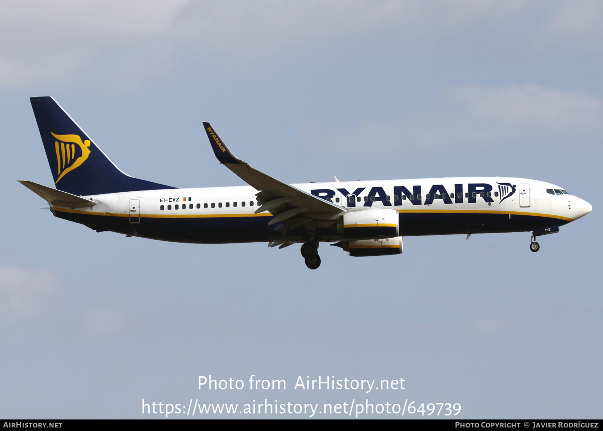
<instances>
[{"instance_id":1,"label":"near wing with upturned navy winglet reading RYANAIR","mask_svg":"<svg viewBox=\"0 0 603 431\"><path fill-rule=\"evenodd\" d=\"M327 202L327 200L253 169L230 152L209 123L204 122L203 126L218 161L259 191L256 196L262 206L256 210L256 213L269 211L273 214L274 219L268 222L269 225L285 222L286 220L290 220L288 223L291 223L291 219L297 217L298 214L306 219L333 220L347 212L343 206ZM305 223L300 217L295 220L296 226Z\"/></svg>"}]
</instances>

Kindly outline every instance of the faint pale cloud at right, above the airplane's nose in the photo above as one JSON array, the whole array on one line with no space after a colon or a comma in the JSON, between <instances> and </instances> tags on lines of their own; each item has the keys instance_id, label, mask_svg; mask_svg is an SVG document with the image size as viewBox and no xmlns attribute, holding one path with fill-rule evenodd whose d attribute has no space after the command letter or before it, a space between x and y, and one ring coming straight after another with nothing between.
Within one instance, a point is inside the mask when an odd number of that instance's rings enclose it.
<instances>
[{"instance_id":1,"label":"faint pale cloud at right, above the airplane's nose","mask_svg":"<svg viewBox=\"0 0 603 431\"><path fill-rule=\"evenodd\" d=\"M323 138L314 144L365 152L378 143L390 153L408 153L526 140L589 145L598 142L602 132L601 99L532 84L464 85L444 92L434 107L420 113L325 131L317 134Z\"/></svg>"}]
</instances>

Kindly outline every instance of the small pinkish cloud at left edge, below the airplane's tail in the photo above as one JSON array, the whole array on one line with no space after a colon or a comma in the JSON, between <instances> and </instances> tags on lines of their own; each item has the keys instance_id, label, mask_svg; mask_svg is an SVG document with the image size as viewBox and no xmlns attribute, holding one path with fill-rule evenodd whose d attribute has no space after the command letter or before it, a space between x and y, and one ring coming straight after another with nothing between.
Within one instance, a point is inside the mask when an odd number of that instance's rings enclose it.
<instances>
[{"instance_id":1,"label":"small pinkish cloud at left edge, below the airplane's tail","mask_svg":"<svg viewBox=\"0 0 603 431\"><path fill-rule=\"evenodd\" d=\"M13 320L34 314L57 285L57 277L48 271L0 265L0 317Z\"/></svg>"}]
</instances>

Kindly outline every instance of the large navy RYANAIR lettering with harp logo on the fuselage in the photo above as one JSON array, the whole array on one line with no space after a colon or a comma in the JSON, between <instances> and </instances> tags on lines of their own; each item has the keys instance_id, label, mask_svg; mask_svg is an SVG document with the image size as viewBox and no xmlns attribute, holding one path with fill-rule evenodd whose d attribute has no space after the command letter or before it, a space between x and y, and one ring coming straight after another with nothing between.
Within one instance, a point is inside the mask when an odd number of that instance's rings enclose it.
<instances>
[{"instance_id":1,"label":"large navy RYANAIR lettering with harp logo on the fuselage","mask_svg":"<svg viewBox=\"0 0 603 431\"><path fill-rule=\"evenodd\" d=\"M311 193L321 199L347 207L370 207L373 206L374 202L381 202L383 206L399 206L402 205L403 200L408 200L412 205L432 205L436 200L450 204L476 203L479 199L491 205L494 203L494 198L500 203L516 191L515 185L500 182L497 184L499 186L497 187L498 190L494 192L491 184L470 182L469 184L455 184L453 187L449 185L448 188L444 187L443 184L434 184L425 195L423 195L420 185L413 185L412 190L403 185L397 185L393 188L393 194L388 194L384 187L371 187L370 190L367 187L358 187L356 190L316 188L311 190ZM368 192L365 190L368 190ZM340 196L342 202L338 202L336 195Z\"/></svg>"}]
</instances>

